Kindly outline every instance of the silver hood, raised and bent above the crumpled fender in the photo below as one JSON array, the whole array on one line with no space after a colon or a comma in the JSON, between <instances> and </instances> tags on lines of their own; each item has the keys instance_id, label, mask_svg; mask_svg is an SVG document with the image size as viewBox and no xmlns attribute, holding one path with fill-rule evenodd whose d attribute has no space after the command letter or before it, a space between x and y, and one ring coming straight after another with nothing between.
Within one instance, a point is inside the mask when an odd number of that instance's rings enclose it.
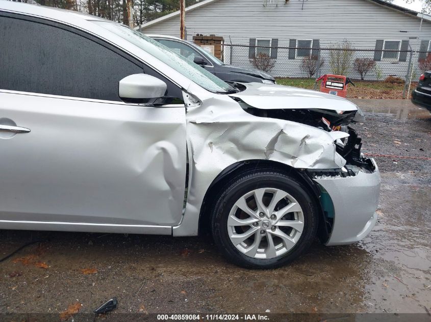
<instances>
[{"instance_id":1,"label":"silver hood, raised and bent above the crumpled fender","mask_svg":"<svg viewBox=\"0 0 431 322\"><path fill-rule=\"evenodd\" d=\"M259 109L327 109L356 111L358 107L345 98L298 87L242 83L246 90L231 94L246 104Z\"/></svg>"}]
</instances>

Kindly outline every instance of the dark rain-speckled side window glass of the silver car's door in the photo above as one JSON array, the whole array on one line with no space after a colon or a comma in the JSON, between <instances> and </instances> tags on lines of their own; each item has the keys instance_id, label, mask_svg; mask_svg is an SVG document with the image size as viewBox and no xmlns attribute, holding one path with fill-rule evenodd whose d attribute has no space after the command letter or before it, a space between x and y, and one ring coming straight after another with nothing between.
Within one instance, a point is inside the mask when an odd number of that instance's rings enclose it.
<instances>
[{"instance_id":1,"label":"dark rain-speckled side window glass of the silver car's door","mask_svg":"<svg viewBox=\"0 0 431 322\"><path fill-rule=\"evenodd\" d=\"M59 27L0 16L0 89L120 101L118 82L143 68Z\"/></svg>"}]
</instances>

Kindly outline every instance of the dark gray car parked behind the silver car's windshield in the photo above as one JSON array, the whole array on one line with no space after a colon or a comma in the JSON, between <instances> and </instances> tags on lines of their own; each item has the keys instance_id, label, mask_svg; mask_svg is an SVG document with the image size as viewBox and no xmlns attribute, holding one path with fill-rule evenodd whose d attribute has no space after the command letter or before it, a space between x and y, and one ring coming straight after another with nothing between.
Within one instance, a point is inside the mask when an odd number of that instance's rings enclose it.
<instances>
[{"instance_id":1,"label":"dark gray car parked behind the silver car's windshield","mask_svg":"<svg viewBox=\"0 0 431 322\"><path fill-rule=\"evenodd\" d=\"M196 44L172 36L147 35L159 43L169 47L176 53L188 58L197 65L202 66L210 73L216 75L224 81L234 81L242 83L259 82L274 84L275 79L271 75L252 68L236 67L226 65L208 51Z\"/></svg>"}]
</instances>

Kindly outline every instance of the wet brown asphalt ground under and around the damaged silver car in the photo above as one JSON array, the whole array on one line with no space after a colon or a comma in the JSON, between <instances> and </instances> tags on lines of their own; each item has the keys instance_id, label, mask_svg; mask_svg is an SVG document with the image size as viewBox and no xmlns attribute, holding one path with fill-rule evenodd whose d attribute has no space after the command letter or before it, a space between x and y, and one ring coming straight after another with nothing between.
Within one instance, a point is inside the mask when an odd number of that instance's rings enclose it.
<instances>
[{"instance_id":1,"label":"wet brown asphalt ground under and around the damaged silver car","mask_svg":"<svg viewBox=\"0 0 431 322\"><path fill-rule=\"evenodd\" d=\"M355 100L354 127L382 171L378 223L362 242L317 241L293 264L245 270L205 237L0 230L0 313L92 312L116 296L118 313L431 311L431 114L410 102ZM396 156L396 157L393 157ZM418 159L404 159L409 156ZM367 200L364 200L367 202Z\"/></svg>"}]
</instances>

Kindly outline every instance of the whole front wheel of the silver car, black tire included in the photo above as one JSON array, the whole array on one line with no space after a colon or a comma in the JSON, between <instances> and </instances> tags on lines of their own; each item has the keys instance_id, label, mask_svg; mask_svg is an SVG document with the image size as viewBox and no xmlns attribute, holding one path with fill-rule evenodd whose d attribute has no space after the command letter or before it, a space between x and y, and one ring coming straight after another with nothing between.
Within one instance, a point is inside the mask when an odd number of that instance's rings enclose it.
<instances>
[{"instance_id":1,"label":"whole front wheel of the silver car, black tire included","mask_svg":"<svg viewBox=\"0 0 431 322\"><path fill-rule=\"evenodd\" d=\"M313 242L317 225L307 189L278 170L253 169L233 178L212 213L220 251L246 268L276 268L297 258Z\"/></svg>"}]
</instances>

